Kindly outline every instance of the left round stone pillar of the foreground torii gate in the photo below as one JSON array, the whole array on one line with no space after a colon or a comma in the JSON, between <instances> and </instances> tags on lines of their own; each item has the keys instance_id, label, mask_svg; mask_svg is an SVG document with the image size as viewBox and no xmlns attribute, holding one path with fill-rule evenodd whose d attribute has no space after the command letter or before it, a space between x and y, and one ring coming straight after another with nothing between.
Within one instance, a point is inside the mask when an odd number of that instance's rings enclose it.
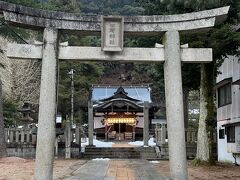
<instances>
[{"instance_id":1,"label":"left round stone pillar of the foreground torii gate","mask_svg":"<svg viewBox=\"0 0 240 180\"><path fill-rule=\"evenodd\" d=\"M45 28L43 35L42 72L39 100L36 180L50 180L53 176L55 116L57 105L58 30Z\"/></svg>"}]
</instances>

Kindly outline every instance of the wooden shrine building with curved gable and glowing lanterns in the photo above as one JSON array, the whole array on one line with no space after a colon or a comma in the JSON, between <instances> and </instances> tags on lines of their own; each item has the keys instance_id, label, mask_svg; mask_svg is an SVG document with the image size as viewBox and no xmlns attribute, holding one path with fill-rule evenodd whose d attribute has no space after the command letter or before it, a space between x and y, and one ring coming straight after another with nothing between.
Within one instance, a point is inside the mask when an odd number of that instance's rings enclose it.
<instances>
[{"instance_id":1,"label":"wooden shrine building with curved gable and glowing lanterns","mask_svg":"<svg viewBox=\"0 0 240 180\"><path fill-rule=\"evenodd\" d=\"M144 102L153 112L148 85L93 85L91 91L97 139L143 140Z\"/></svg>"}]
</instances>

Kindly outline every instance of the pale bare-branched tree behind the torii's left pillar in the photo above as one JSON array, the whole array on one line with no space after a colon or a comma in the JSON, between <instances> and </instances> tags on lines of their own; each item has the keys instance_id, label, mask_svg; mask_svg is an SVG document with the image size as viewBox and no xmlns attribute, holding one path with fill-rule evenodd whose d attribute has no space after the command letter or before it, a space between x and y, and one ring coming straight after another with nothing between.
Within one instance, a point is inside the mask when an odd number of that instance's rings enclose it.
<instances>
[{"instance_id":1,"label":"pale bare-branched tree behind the torii's left pillar","mask_svg":"<svg viewBox=\"0 0 240 180\"><path fill-rule=\"evenodd\" d=\"M0 37L0 63L5 68L0 70L4 96L16 102L38 104L41 78L41 62L36 60L9 59L6 56L7 38Z\"/></svg>"}]
</instances>

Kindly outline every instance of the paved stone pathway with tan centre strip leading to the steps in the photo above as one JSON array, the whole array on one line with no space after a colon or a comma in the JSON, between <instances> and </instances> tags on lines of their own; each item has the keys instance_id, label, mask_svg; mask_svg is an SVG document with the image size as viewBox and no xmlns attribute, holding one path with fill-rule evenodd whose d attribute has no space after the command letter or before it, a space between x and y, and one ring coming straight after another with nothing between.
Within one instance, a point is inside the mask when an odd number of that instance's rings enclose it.
<instances>
[{"instance_id":1,"label":"paved stone pathway with tan centre strip leading to the steps","mask_svg":"<svg viewBox=\"0 0 240 180\"><path fill-rule=\"evenodd\" d=\"M90 160L68 180L166 180L147 160Z\"/></svg>"}]
</instances>

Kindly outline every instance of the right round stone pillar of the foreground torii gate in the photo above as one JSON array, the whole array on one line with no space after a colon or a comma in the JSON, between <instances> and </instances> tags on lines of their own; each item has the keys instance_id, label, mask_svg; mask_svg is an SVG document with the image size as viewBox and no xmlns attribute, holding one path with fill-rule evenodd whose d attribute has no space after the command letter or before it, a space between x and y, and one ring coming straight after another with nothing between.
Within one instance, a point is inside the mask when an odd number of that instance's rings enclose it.
<instances>
[{"instance_id":1,"label":"right round stone pillar of the foreground torii gate","mask_svg":"<svg viewBox=\"0 0 240 180\"><path fill-rule=\"evenodd\" d=\"M165 47L164 81L171 178L187 180L179 32L166 32L163 41Z\"/></svg>"}]
</instances>

